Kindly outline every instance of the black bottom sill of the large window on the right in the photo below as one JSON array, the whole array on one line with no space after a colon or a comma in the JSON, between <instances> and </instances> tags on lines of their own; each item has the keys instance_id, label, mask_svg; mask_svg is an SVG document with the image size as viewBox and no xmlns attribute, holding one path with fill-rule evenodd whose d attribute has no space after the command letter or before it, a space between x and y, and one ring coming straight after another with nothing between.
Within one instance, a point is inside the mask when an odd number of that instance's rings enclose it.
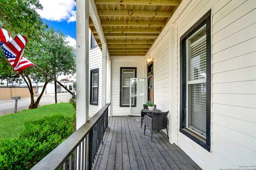
<instances>
[{"instance_id":1,"label":"black bottom sill of the large window on the right","mask_svg":"<svg viewBox=\"0 0 256 170\"><path fill-rule=\"evenodd\" d=\"M205 139L199 137L197 134L185 129L185 128L181 128L180 132L184 135L186 135L186 137L190 138L191 140L193 140L194 142L196 142L199 146L203 147L204 149L206 149L207 151L211 151L211 147L209 145L206 145L206 141Z\"/></svg>"}]
</instances>

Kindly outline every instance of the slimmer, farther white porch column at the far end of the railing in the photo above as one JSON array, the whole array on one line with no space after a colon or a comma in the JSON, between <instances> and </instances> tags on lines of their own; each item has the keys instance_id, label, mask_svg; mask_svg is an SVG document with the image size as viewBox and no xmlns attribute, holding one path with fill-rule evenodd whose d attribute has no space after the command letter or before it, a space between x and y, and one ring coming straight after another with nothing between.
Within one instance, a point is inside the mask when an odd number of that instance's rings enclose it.
<instances>
[{"instance_id":1,"label":"slimmer, farther white porch column at the far end of the railing","mask_svg":"<svg viewBox=\"0 0 256 170\"><path fill-rule=\"evenodd\" d=\"M101 106L106 105L106 94L107 94L107 44L102 44L102 97Z\"/></svg>"}]
</instances>

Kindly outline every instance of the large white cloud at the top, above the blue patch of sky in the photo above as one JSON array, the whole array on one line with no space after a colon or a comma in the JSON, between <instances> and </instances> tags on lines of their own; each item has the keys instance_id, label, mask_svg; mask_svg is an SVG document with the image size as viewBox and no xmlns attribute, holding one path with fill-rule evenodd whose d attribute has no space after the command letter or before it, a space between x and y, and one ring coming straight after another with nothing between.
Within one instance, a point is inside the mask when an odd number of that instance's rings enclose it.
<instances>
[{"instance_id":1,"label":"large white cloud at the top, above the blue patch of sky","mask_svg":"<svg viewBox=\"0 0 256 170\"><path fill-rule=\"evenodd\" d=\"M51 21L76 21L76 2L74 0L39 0L43 10L37 10L42 18Z\"/></svg>"}]
</instances>

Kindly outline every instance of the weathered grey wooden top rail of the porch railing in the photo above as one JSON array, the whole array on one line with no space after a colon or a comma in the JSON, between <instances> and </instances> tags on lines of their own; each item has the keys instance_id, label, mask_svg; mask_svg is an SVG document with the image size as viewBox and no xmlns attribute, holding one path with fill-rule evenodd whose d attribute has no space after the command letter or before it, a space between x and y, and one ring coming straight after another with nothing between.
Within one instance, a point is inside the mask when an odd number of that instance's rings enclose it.
<instances>
[{"instance_id":1,"label":"weathered grey wooden top rail of the porch railing","mask_svg":"<svg viewBox=\"0 0 256 170\"><path fill-rule=\"evenodd\" d=\"M71 134L70 137L63 141L57 148L53 149L50 154L45 156L31 169L58 169L69 155L78 147L79 143L81 143L85 136L90 132L94 124L98 122L99 118L103 115L106 109L108 109L109 105L110 103L103 106L89 121Z\"/></svg>"}]
</instances>

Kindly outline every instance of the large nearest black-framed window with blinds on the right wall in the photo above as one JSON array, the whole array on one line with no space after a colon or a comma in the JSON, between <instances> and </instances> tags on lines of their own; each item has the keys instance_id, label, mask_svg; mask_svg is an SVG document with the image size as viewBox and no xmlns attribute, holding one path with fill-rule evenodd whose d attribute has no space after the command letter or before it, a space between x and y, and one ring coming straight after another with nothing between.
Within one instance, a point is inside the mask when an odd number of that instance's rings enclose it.
<instances>
[{"instance_id":1,"label":"large nearest black-framed window with blinds on the right wall","mask_svg":"<svg viewBox=\"0 0 256 170\"><path fill-rule=\"evenodd\" d=\"M180 131L210 151L211 11L181 37Z\"/></svg>"}]
</instances>

